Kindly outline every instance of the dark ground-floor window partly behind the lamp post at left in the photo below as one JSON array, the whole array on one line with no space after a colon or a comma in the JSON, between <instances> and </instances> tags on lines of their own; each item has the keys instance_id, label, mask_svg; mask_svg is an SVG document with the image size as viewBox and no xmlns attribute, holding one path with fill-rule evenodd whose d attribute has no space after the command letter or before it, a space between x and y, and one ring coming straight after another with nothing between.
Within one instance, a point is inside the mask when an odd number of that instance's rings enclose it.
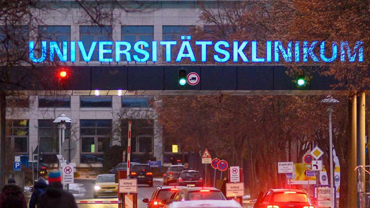
<instances>
[{"instance_id":1,"label":"dark ground-floor window partly behind the lamp post at left","mask_svg":"<svg viewBox=\"0 0 370 208\"><path fill-rule=\"evenodd\" d=\"M38 138L40 142L40 153L59 153L59 129L53 119L38 120ZM65 138L71 137L71 123L65 124Z\"/></svg>"}]
</instances>

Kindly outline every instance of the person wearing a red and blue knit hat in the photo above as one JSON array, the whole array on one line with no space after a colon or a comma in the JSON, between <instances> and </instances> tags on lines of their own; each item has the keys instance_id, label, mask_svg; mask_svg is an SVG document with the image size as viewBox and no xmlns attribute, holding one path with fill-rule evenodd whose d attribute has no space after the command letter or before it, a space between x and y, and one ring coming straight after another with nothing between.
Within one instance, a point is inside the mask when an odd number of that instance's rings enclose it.
<instances>
[{"instance_id":1,"label":"person wearing a red and blue knit hat","mask_svg":"<svg viewBox=\"0 0 370 208\"><path fill-rule=\"evenodd\" d=\"M51 171L48 181L49 186L38 199L37 208L77 208L74 196L63 190L60 171Z\"/></svg>"}]
</instances>

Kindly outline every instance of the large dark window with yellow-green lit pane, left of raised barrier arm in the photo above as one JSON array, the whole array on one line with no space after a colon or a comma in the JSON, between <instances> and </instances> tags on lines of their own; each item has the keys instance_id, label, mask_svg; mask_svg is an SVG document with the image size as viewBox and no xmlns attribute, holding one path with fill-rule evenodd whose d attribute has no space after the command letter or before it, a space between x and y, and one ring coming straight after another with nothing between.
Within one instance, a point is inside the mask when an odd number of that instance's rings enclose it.
<instances>
[{"instance_id":1,"label":"large dark window with yellow-green lit pane, left of raised barrier arm","mask_svg":"<svg viewBox=\"0 0 370 208\"><path fill-rule=\"evenodd\" d=\"M100 162L111 145L112 120L81 119L80 135L81 162Z\"/></svg>"}]
</instances>

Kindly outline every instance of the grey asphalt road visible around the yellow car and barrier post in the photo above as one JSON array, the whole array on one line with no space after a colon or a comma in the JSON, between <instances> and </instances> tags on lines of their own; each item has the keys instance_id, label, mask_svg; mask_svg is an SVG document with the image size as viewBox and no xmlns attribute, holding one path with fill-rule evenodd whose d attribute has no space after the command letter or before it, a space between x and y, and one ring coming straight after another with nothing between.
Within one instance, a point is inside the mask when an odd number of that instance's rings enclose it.
<instances>
[{"instance_id":1,"label":"grey asphalt road visible around the yellow car and barrier post","mask_svg":"<svg viewBox=\"0 0 370 208\"><path fill-rule=\"evenodd\" d=\"M115 201L117 197L100 197L94 199L94 184L90 179L75 179L74 182L78 187L83 190L82 194L75 194L76 201ZM154 181L153 187L148 185L138 185L138 208L146 208L147 204L142 202L142 199L150 198L159 185L162 182ZM79 208L117 208L117 204L78 204Z\"/></svg>"}]
</instances>

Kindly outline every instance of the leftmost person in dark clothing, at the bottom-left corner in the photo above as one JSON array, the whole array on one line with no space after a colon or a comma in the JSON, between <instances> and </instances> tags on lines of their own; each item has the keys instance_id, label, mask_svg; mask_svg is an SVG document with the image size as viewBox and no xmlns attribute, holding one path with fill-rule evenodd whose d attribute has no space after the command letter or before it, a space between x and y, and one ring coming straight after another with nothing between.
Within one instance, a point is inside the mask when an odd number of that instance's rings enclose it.
<instances>
[{"instance_id":1,"label":"leftmost person in dark clothing, at the bottom-left corner","mask_svg":"<svg viewBox=\"0 0 370 208\"><path fill-rule=\"evenodd\" d=\"M0 194L0 208L27 208L26 197L14 178L9 178Z\"/></svg>"}]
</instances>

